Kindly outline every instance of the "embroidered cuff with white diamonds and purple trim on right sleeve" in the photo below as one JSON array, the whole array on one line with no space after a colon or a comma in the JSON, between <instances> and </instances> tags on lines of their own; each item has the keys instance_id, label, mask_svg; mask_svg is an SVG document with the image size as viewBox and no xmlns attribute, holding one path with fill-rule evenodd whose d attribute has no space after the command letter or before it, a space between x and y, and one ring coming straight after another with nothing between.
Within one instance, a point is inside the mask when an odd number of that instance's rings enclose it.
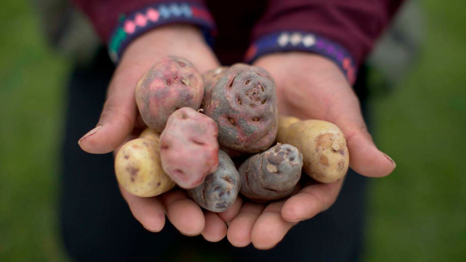
<instances>
[{"instance_id":1,"label":"embroidered cuff with white diamonds and purple trim on right sleeve","mask_svg":"<svg viewBox=\"0 0 466 262\"><path fill-rule=\"evenodd\" d=\"M307 51L323 55L342 69L349 83L356 80L356 63L342 46L313 33L282 31L268 34L255 41L247 50L246 62L253 62L261 55L274 52Z\"/></svg>"}]
</instances>

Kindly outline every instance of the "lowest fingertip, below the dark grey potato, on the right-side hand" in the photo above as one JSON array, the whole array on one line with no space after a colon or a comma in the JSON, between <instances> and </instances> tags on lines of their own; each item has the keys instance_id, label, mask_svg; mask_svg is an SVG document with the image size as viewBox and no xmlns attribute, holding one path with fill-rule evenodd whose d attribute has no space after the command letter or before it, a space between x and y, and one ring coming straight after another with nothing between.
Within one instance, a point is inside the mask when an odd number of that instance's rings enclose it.
<instances>
[{"instance_id":1,"label":"lowest fingertip, below the dark grey potato, on the right-side hand","mask_svg":"<svg viewBox=\"0 0 466 262\"><path fill-rule=\"evenodd\" d=\"M285 200L281 200L269 204L254 223L251 241L255 248L273 248L283 239L288 230L297 223L284 221L281 218L280 212L284 203Z\"/></svg>"}]
</instances>

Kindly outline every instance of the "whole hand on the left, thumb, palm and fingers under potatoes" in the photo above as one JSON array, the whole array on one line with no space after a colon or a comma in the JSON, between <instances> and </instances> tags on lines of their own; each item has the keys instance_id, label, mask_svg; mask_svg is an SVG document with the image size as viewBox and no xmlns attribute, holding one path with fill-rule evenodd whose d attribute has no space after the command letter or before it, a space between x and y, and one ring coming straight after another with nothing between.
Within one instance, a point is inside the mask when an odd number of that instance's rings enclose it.
<instances>
[{"instance_id":1,"label":"whole hand on the left, thumb, palm and fingers under potatoes","mask_svg":"<svg viewBox=\"0 0 466 262\"><path fill-rule=\"evenodd\" d=\"M112 76L96 128L79 140L82 150L95 154L116 153L124 142L137 138L145 126L135 100L137 82L166 55L185 57L201 74L219 66L199 29L193 26L167 25L139 36L126 48ZM209 241L219 241L226 235L226 225L219 216L212 212L203 213L185 191L175 189L160 196L142 198L126 192L121 186L120 190L134 217L147 230L162 230L166 213L182 234L202 233Z\"/></svg>"}]
</instances>

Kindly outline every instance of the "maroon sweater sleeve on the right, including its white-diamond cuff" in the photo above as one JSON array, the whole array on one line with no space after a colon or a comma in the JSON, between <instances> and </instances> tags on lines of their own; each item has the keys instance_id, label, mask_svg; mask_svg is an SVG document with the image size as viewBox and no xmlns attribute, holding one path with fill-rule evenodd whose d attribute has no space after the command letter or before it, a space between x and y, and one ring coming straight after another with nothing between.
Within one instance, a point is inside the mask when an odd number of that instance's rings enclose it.
<instances>
[{"instance_id":1,"label":"maroon sweater sleeve on the right, including its white-diamond cuff","mask_svg":"<svg viewBox=\"0 0 466 262\"><path fill-rule=\"evenodd\" d=\"M246 54L308 51L336 62L354 83L370 52L403 0L269 0Z\"/></svg>"}]
</instances>

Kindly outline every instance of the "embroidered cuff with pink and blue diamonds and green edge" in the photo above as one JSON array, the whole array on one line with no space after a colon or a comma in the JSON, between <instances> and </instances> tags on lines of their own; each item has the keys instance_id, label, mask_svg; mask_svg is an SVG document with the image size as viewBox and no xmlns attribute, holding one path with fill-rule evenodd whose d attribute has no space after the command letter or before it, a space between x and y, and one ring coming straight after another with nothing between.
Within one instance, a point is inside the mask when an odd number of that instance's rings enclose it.
<instances>
[{"instance_id":1,"label":"embroidered cuff with pink and blue diamonds and green edge","mask_svg":"<svg viewBox=\"0 0 466 262\"><path fill-rule=\"evenodd\" d=\"M211 44L215 22L205 7L183 2L155 4L121 16L108 44L111 60L117 63L124 48L137 36L164 24L179 22L199 26Z\"/></svg>"}]
</instances>

